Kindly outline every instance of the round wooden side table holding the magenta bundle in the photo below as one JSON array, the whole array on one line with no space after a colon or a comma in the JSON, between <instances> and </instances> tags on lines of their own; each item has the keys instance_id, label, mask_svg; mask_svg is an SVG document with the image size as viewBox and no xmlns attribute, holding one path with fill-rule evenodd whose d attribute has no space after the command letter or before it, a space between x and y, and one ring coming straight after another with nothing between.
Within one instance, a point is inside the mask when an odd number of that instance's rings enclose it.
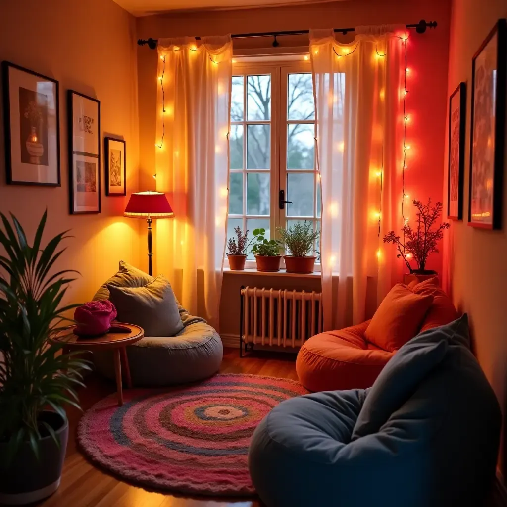
<instances>
[{"instance_id":1,"label":"round wooden side table holding the magenta bundle","mask_svg":"<svg viewBox=\"0 0 507 507\"><path fill-rule=\"evenodd\" d=\"M144 330L138 325L113 322L113 326L121 325L130 330L129 333L106 333L94 338L81 338L74 334L75 325L58 332L52 340L63 345L63 351L73 349L89 350L91 352L112 349L115 361L116 386L118 389L118 405L123 405L122 366L125 369L127 387L132 388L130 369L128 366L127 351L125 347L139 341L144 336Z\"/></svg>"}]
</instances>

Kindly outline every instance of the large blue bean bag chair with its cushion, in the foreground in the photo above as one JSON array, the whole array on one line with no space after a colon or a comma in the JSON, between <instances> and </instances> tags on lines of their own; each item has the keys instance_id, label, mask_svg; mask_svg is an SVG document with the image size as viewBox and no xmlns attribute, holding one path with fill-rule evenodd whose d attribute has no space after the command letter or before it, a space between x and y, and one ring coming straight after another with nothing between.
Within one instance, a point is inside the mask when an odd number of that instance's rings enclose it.
<instances>
[{"instance_id":1,"label":"large blue bean bag chair with its cushion, in the foreground","mask_svg":"<svg viewBox=\"0 0 507 507\"><path fill-rule=\"evenodd\" d=\"M282 402L253 434L248 464L268 507L477 507L500 423L464 315L405 344L369 389Z\"/></svg>"}]
</instances>

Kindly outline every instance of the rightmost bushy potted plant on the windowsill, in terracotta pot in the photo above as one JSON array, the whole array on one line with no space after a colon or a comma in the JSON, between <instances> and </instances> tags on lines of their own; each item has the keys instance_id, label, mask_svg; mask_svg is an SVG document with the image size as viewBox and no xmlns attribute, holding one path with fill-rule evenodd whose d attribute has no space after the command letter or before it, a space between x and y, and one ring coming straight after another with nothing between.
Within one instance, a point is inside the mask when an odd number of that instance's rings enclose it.
<instances>
[{"instance_id":1,"label":"rightmost bushy potted plant on the windowsill, in terracotta pot","mask_svg":"<svg viewBox=\"0 0 507 507\"><path fill-rule=\"evenodd\" d=\"M311 230L310 230L311 229ZM285 249L290 255L284 255L287 273L313 273L317 256L309 256L313 250L313 242L318 237L318 231L313 232L313 223L301 222L289 229L278 227L278 234L285 243Z\"/></svg>"}]
</instances>

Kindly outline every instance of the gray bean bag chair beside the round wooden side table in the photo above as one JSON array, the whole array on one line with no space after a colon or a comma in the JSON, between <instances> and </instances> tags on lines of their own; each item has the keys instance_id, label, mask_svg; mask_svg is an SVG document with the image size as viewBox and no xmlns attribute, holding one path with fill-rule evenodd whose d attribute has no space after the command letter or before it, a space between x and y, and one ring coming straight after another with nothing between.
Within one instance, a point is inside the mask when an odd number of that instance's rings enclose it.
<instances>
[{"instance_id":1,"label":"gray bean bag chair beside the round wooden side table","mask_svg":"<svg viewBox=\"0 0 507 507\"><path fill-rule=\"evenodd\" d=\"M94 301L108 299L107 285L140 287L154 278L120 261L120 270L101 285ZM158 387L201 380L218 372L223 346L218 333L200 317L190 315L178 303L183 329L176 336L146 336L127 347L132 383L138 387ZM93 355L96 370L114 379L114 364L109 351Z\"/></svg>"}]
</instances>

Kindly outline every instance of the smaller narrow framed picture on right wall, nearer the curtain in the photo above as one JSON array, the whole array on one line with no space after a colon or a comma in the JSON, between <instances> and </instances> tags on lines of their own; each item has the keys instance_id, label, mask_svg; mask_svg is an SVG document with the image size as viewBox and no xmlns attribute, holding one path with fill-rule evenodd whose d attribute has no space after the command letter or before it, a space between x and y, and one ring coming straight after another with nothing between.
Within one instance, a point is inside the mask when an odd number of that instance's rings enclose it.
<instances>
[{"instance_id":1,"label":"smaller narrow framed picture on right wall, nearer the curtain","mask_svg":"<svg viewBox=\"0 0 507 507\"><path fill-rule=\"evenodd\" d=\"M458 174L457 174L457 191L458 204L457 213L451 214L451 163L453 154L453 141L456 141L456 132L453 127L456 126L456 119L453 120L453 113L456 113L455 105L459 104L459 118L457 119L457 156L458 156ZM447 218L450 220L463 220L463 187L465 173L465 129L466 129L466 83L460 83L456 90L449 97L449 159L447 168ZM454 134L454 136L453 136ZM456 156L456 154L454 154Z\"/></svg>"}]
</instances>

